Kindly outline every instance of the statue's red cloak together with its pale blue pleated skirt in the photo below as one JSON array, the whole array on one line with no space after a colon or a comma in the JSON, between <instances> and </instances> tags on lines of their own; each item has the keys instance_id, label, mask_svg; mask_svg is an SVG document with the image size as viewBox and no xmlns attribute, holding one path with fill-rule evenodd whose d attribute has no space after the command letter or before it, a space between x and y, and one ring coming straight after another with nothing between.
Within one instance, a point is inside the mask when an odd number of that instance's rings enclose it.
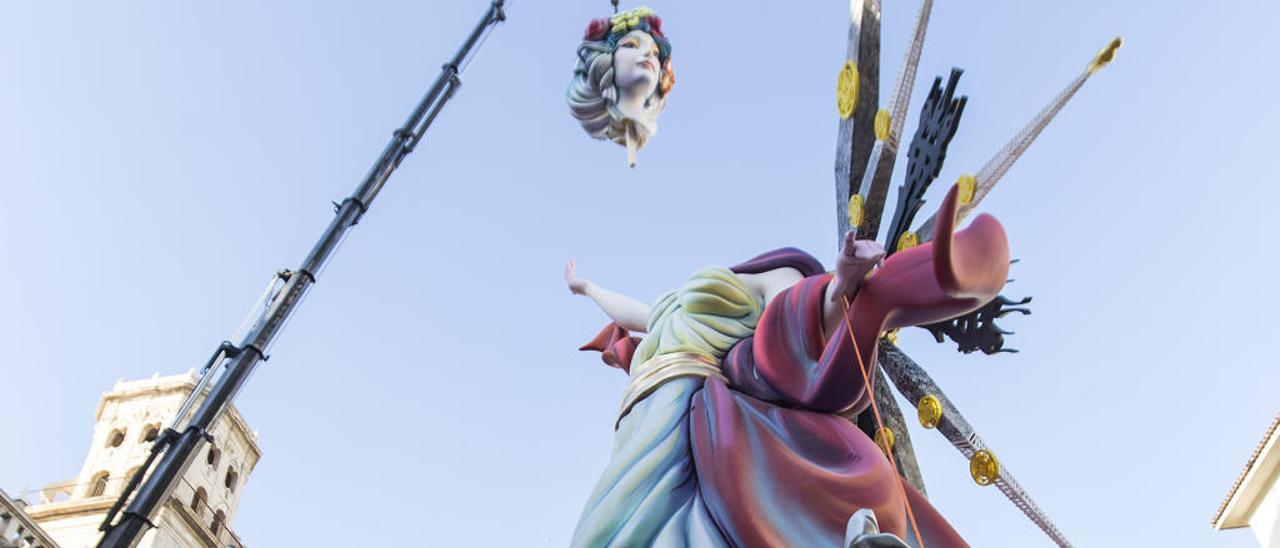
<instances>
[{"instance_id":1,"label":"statue's red cloak together with its pale blue pleated skirt","mask_svg":"<svg viewBox=\"0 0 1280 548\"><path fill-rule=\"evenodd\" d=\"M914 544L906 502L925 545L966 545L876 443L837 415L870 403L864 379L884 329L964 314L1004 286L1009 250L1000 223L980 215L954 232L955 205L952 188L936 241L891 256L833 333L823 329L832 277L812 256L783 248L735 266L794 268L805 278L769 301L754 333L723 355L727 380L673 379L622 417L614 461L573 544L836 547L860 508ZM630 371L640 342L611 324L584 350Z\"/></svg>"}]
</instances>

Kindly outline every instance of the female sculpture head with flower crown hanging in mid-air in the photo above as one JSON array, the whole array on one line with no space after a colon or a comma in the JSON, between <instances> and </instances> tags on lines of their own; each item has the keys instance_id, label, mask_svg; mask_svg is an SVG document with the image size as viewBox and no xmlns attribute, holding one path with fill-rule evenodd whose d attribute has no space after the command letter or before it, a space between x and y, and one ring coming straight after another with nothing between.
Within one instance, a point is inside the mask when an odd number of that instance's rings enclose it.
<instances>
[{"instance_id":1,"label":"female sculpture head with flower crown hanging in mid-air","mask_svg":"<svg viewBox=\"0 0 1280 548\"><path fill-rule=\"evenodd\" d=\"M658 132L676 83L671 42L649 8L593 19L577 49L568 108L588 134L627 147L627 164Z\"/></svg>"}]
</instances>

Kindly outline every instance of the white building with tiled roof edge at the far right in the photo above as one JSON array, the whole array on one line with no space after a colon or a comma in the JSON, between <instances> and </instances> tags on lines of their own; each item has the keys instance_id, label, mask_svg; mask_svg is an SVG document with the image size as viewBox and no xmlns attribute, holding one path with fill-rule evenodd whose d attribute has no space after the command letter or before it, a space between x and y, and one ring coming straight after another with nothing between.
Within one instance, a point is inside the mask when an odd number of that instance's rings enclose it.
<instances>
[{"instance_id":1,"label":"white building with tiled roof edge at the far right","mask_svg":"<svg viewBox=\"0 0 1280 548\"><path fill-rule=\"evenodd\" d=\"M1280 415L1213 516L1213 529L1249 528L1263 548L1280 548Z\"/></svg>"}]
</instances>

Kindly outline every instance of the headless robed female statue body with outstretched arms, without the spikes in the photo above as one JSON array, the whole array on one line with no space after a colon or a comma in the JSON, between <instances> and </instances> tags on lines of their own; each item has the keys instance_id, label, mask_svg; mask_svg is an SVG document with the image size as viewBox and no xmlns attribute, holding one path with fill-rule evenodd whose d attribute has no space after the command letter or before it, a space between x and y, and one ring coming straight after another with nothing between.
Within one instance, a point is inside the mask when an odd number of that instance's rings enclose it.
<instances>
[{"instance_id":1,"label":"headless robed female statue body with outstretched arms, without the spikes","mask_svg":"<svg viewBox=\"0 0 1280 548\"><path fill-rule=\"evenodd\" d=\"M852 237L835 274L785 248L699 270L652 307L570 262L570 289L613 320L584 350L628 374L613 457L572 544L835 547L870 511L887 534L965 545L844 419L872 401L864 379L882 332L968 312L1004 287L1000 223L982 215L955 232L955 188L937 219L932 242L883 261Z\"/></svg>"}]
</instances>

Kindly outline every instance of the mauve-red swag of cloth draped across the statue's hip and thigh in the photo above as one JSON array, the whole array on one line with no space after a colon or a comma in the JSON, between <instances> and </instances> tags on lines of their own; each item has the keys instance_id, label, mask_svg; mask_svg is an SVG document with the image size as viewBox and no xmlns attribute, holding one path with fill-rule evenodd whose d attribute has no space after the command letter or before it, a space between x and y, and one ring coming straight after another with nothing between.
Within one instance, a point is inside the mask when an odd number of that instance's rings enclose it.
<instances>
[{"instance_id":1,"label":"mauve-red swag of cloth draped across the statue's hip and thigh","mask_svg":"<svg viewBox=\"0 0 1280 548\"><path fill-rule=\"evenodd\" d=\"M882 530L904 530L888 461L847 420L708 380L690 421L703 499L736 545L836 547L859 508L882 516Z\"/></svg>"}]
</instances>

